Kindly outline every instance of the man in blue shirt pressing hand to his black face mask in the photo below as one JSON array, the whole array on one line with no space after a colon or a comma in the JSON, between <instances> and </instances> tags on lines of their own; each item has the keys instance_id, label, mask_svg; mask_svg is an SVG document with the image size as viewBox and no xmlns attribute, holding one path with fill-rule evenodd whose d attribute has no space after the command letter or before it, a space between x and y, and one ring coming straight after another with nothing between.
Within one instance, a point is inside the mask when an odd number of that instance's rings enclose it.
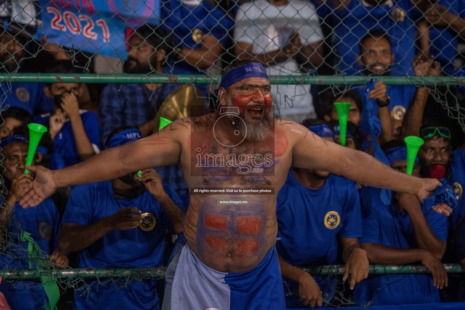
<instances>
[{"instance_id":1,"label":"man in blue shirt pressing hand to his black face mask","mask_svg":"<svg viewBox=\"0 0 465 310\"><path fill-rule=\"evenodd\" d=\"M58 60L47 73L78 73L69 60ZM79 83L50 83L44 88L53 99L53 112L34 117L45 125L53 140L53 152L59 153L65 165L75 165L100 152L97 114L79 108Z\"/></svg>"}]
</instances>

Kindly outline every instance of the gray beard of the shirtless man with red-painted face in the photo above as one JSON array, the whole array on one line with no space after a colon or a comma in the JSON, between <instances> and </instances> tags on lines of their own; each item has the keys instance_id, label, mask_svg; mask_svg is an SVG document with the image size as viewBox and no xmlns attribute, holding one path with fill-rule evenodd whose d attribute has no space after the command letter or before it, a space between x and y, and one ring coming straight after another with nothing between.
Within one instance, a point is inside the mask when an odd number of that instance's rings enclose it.
<instances>
[{"instance_id":1,"label":"gray beard of the shirtless man with red-painted face","mask_svg":"<svg viewBox=\"0 0 465 310\"><path fill-rule=\"evenodd\" d=\"M233 100L231 99L229 94L226 98L226 106L233 106ZM233 118L239 116L239 118L242 119L244 122L235 122L235 124L233 125L234 129L239 130L239 132L247 132L246 140L263 141L266 139L268 134L270 134L270 123L274 119L273 112L272 109L270 109L270 112L267 113L265 106L263 105L255 105L253 107L261 107L263 108L263 111L265 113L261 123L259 123L258 125L251 124L247 121L247 119L245 118L246 112L239 113L239 115L226 114L226 118L231 121L230 123L232 123L234 120Z\"/></svg>"}]
</instances>

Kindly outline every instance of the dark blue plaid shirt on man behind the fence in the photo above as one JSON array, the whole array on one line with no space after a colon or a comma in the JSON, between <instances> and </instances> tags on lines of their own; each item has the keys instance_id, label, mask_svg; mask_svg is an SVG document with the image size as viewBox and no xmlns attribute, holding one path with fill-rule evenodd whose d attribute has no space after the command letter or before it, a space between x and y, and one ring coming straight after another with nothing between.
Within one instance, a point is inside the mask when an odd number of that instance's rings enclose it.
<instances>
[{"instance_id":1,"label":"dark blue plaid shirt on man behind the fence","mask_svg":"<svg viewBox=\"0 0 465 310\"><path fill-rule=\"evenodd\" d=\"M100 96L100 141L120 126L139 126L154 119L163 86L152 92L143 84L108 84ZM160 98L162 99L162 98Z\"/></svg>"}]
</instances>

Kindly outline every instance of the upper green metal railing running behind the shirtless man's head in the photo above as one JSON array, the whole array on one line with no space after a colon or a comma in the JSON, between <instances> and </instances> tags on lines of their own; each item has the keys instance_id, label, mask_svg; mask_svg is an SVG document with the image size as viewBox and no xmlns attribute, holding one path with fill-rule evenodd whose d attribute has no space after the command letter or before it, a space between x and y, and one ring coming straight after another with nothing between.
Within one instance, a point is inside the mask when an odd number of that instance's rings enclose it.
<instances>
[{"instance_id":1,"label":"upper green metal railing running behind the shirtless man's head","mask_svg":"<svg viewBox=\"0 0 465 310\"><path fill-rule=\"evenodd\" d=\"M340 76L340 75L270 75L271 84L355 84L363 85L374 77L367 76ZM42 83L196 83L219 84L219 75L194 74L57 74L57 73L16 73L14 75L0 73L0 82L42 82ZM465 85L465 77L409 77L409 76L379 76L386 85Z\"/></svg>"}]
</instances>

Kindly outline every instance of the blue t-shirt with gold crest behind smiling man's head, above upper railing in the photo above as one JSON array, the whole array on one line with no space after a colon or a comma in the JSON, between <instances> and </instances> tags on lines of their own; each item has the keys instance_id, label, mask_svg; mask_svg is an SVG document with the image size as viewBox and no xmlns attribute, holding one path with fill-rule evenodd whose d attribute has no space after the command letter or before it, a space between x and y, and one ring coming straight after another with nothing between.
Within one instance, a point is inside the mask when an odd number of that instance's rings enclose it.
<instances>
[{"instance_id":1,"label":"blue t-shirt with gold crest behind smiling man's head, above upper railing","mask_svg":"<svg viewBox=\"0 0 465 310\"><path fill-rule=\"evenodd\" d=\"M381 6L365 6L361 0L351 0L339 10L331 1L332 24L334 25L334 48L339 49L339 69L347 75L363 74L357 63L359 41L370 30L387 32L392 40L394 65L391 75L413 75L412 60L415 57L416 27L418 12L411 0L388 0ZM321 10L319 12L322 12Z\"/></svg>"}]
</instances>

